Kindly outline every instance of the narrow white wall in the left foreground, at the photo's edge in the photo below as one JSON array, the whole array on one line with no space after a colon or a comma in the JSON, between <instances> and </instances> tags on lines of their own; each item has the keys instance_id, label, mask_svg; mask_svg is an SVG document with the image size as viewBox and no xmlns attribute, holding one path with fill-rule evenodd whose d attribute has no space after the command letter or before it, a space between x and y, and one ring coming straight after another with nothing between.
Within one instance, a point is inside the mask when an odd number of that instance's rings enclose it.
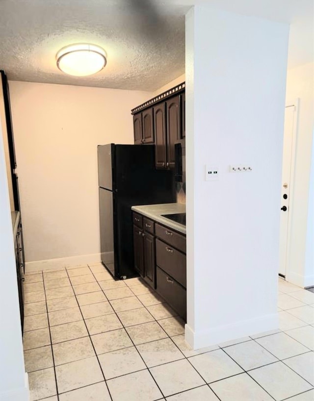
<instances>
[{"instance_id":1,"label":"narrow white wall in the left foreground, at the photo's edge","mask_svg":"<svg viewBox=\"0 0 314 401\"><path fill-rule=\"evenodd\" d=\"M0 117L0 400L27 401L19 297Z\"/></svg>"}]
</instances>

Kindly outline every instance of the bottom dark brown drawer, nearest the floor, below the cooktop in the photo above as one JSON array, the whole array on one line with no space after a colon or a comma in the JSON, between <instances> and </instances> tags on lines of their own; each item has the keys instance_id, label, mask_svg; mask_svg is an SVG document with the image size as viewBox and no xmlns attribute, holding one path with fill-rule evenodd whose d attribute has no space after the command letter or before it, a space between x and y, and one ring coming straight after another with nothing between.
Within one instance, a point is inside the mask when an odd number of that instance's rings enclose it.
<instances>
[{"instance_id":1,"label":"bottom dark brown drawer, nearest the floor, below the cooktop","mask_svg":"<svg viewBox=\"0 0 314 401\"><path fill-rule=\"evenodd\" d=\"M158 266L156 268L156 291L186 321L186 290Z\"/></svg>"}]
</instances>

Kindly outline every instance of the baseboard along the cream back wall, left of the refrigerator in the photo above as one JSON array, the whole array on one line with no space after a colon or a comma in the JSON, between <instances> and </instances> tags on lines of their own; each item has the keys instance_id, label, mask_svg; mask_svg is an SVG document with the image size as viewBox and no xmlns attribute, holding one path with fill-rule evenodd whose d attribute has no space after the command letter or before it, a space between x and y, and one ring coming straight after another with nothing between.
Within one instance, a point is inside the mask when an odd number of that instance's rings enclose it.
<instances>
[{"instance_id":1,"label":"baseboard along the cream back wall, left of the refrigerator","mask_svg":"<svg viewBox=\"0 0 314 401\"><path fill-rule=\"evenodd\" d=\"M56 258L47 260L37 260L34 262L26 262L26 272L35 272L37 270L50 270L64 268L69 266L85 265L88 263L100 263L100 253L92 253L89 255L70 256L66 258Z\"/></svg>"}]
</instances>

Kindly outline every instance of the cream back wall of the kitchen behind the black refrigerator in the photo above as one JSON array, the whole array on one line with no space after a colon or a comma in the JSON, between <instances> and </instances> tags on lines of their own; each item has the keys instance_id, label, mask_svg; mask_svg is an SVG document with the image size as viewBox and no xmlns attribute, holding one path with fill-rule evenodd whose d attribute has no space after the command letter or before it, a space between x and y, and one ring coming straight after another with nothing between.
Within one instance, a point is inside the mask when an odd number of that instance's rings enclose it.
<instances>
[{"instance_id":1,"label":"cream back wall of the kitchen behind the black refrigerator","mask_svg":"<svg viewBox=\"0 0 314 401\"><path fill-rule=\"evenodd\" d=\"M133 143L131 108L152 93L9 86L26 261L99 258L97 145Z\"/></svg>"}]
</instances>

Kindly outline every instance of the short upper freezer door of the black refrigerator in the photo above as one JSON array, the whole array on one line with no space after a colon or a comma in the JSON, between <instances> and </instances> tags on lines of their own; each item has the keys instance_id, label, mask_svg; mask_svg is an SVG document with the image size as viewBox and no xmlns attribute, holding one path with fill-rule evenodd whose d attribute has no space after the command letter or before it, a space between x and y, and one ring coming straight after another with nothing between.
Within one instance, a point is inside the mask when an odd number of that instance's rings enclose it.
<instances>
[{"instance_id":1,"label":"short upper freezer door of the black refrigerator","mask_svg":"<svg viewBox=\"0 0 314 401\"><path fill-rule=\"evenodd\" d=\"M112 190L114 145L98 145L98 185Z\"/></svg>"}]
</instances>

